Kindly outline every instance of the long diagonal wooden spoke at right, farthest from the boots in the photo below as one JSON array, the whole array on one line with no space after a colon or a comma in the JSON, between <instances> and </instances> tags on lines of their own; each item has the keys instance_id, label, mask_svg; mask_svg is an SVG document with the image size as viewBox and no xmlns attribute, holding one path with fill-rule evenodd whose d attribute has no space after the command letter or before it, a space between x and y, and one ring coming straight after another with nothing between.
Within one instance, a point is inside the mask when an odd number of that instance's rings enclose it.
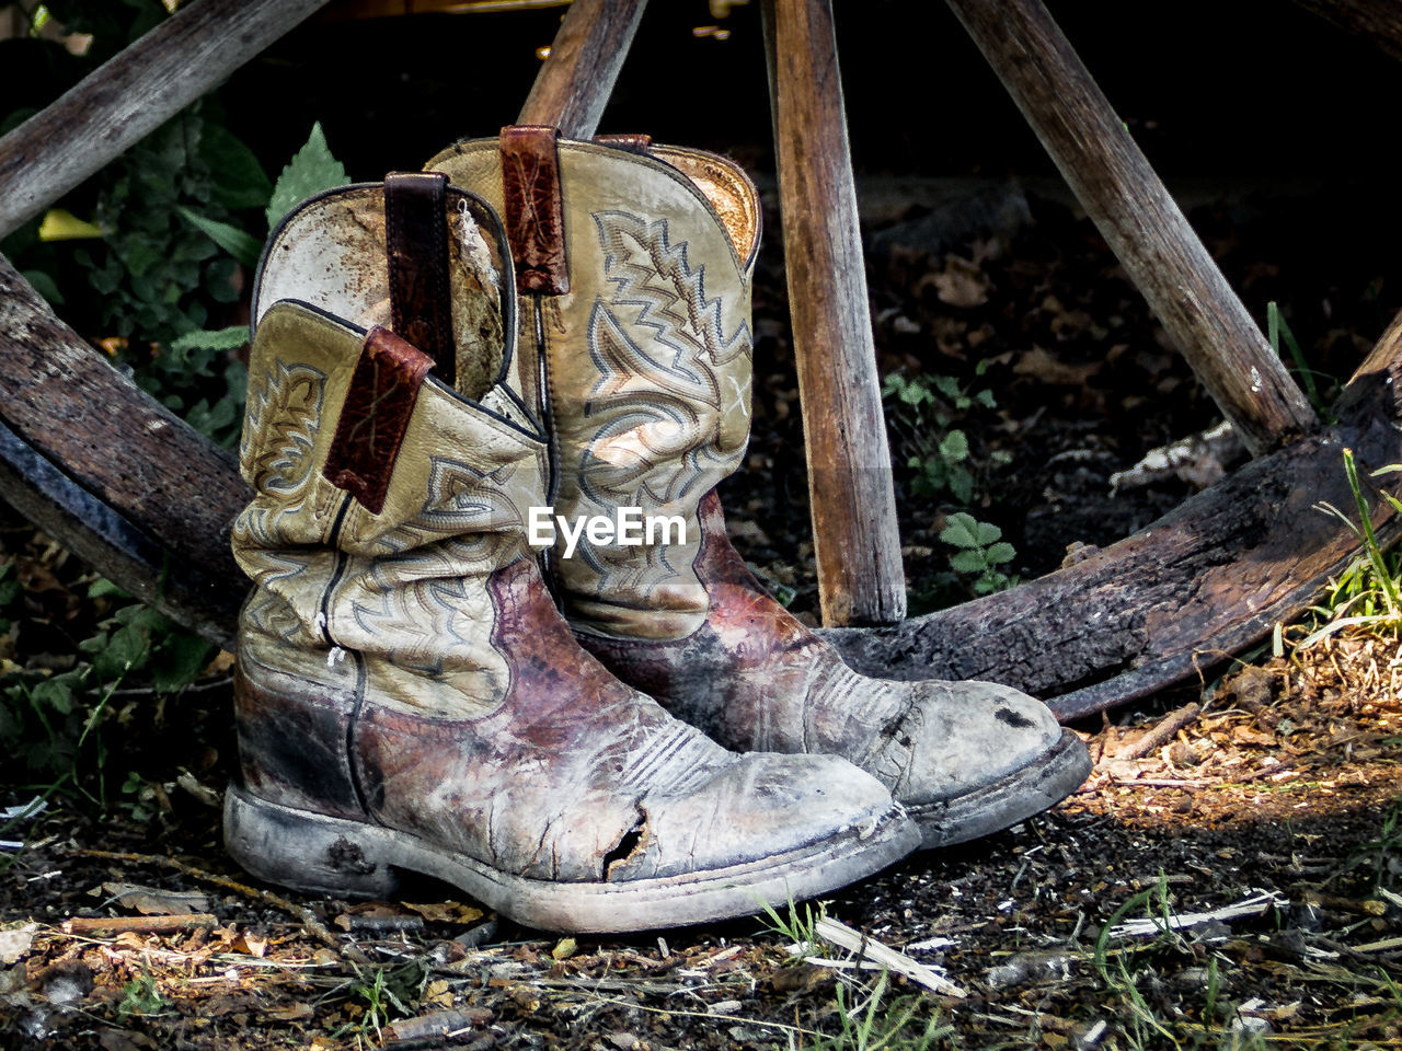
<instances>
[{"instance_id":1,"label":"long diagonal wooden spoke at right, farthest from the boots","mask_svg":"<svg viewBox=\"0 0 1402 1051\"><path fill-rule=\"evenodd\" d=\"M1040 0L948 0L1203 387L1260 455L1315 416Z\"/></svg>"}]
</instances>

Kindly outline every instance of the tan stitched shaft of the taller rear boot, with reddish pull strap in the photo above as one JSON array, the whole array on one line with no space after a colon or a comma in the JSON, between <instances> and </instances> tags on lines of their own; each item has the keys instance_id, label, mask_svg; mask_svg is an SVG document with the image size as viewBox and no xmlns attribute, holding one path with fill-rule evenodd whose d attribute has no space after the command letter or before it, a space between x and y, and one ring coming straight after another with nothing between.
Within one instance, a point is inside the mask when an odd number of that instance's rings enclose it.
<instances>
[{"instance_id":1,"label":"tan stitched shaft of the taller rear boot, with reddish pull strap","mask_svg":"<svg viewBox=\"0 0 1402 1051\"><path fill-rule=\"evenodd\" d=\"M523 374L538 377L555 514L578 530L635 509L635 544L617 530L604 542L557 534L571 624L690 635L709 608L694 568L698 504L749 440L753 184L701 151L557 140L548 129L458 143L428 167L506 220L534 315L538 367Z\"/></svg>"}]
</instances>

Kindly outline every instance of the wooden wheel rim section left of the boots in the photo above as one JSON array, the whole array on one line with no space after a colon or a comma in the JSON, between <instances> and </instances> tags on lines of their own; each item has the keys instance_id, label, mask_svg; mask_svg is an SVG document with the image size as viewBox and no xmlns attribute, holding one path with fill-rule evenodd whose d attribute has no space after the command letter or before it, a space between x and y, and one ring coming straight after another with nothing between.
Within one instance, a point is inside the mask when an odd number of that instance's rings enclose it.
<instances>
[{"instance_id":1,"label":"wooden wheel rim section left of the boots","mask_svg":"<svg viewBox=\"0 0 1402 1051\"><path fill-rule=\"evenodd\" d=\"M164 614L229 646L247 582L231 455L112 369L0 256L0 495Z\"/></svg>"}]
</instances>

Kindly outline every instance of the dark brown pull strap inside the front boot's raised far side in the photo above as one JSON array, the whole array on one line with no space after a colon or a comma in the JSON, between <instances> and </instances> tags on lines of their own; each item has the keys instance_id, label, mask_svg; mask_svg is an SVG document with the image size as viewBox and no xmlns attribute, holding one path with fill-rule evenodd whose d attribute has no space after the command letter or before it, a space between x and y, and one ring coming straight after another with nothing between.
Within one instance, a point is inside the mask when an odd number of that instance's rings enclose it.
<instances>
[{"instance_id":1,"label":"dark brown pull strap inside the front boot's raised far side","mask_svg":"<svg viewBox=\"0 0 1402 1051\"><path fill-rule=\"evenodd\" d=\"M453 384L453 298L449 291L447 175L393 172L384 179L390 254L390 318L395 335L426 353Z\"/></svg>"}]
</instances>

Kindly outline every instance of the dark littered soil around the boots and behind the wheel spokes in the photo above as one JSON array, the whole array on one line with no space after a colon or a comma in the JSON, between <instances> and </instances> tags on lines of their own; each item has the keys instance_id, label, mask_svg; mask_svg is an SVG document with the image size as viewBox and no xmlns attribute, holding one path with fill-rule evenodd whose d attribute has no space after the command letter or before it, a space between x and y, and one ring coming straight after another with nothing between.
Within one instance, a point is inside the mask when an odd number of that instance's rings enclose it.
<instances>
[{"instance_id":1,"label":"dark littered soil around the boots and behind the wheel spokes","mask_svg":"<svg viewBox=\"0 0 1402 1051\"><path fill-rule=\"evenodd\" d=\"M1084 219L1016 188L979 192L1002 206L974 228L951 230L931 202L872 231L883 369L993 392L934 425L969 437L970 502L917 492L907 461L930 418L892 409L907 573L928 604L972 590L938 535L956 510L998 524L1009 569L1030 577L1235 462L1213 451L1110 495L1112 474L1214 409ZM1391 261L1272 237L1293 209L1235 202L1195 221L1251 303L1295 304L1311 366L1346 377L1387 320L1380 289L1402 280ZM777 255L756 291L754 437L723 496L737 547L812 619ZM1335 384L1321 380L1325 395ZM112 600L90 598L91 572L21 521L0 545L27 610L0 652L3 687L21 667L72 667ZM0 853L0 1045L408 1048L451 1030L478 1048L820 1047L866 1020L908 1047L1399 1045L1402 645L1288 645L1302 635L1075 727L1095 772L1053 811L823 902L869 939L855 953L820 937L795 950L806 905L778 925L561 939L439 884L370 904L257 886L220 848L227 656L174 696L130 684L109 699L83 792L0 832L24 841ZM0 806L43 792L21 758L0 771ZM878 944L924 967L864 970ZM848 1036L834 1045L864 1045Z\"/></svg>"}]
</instances>

